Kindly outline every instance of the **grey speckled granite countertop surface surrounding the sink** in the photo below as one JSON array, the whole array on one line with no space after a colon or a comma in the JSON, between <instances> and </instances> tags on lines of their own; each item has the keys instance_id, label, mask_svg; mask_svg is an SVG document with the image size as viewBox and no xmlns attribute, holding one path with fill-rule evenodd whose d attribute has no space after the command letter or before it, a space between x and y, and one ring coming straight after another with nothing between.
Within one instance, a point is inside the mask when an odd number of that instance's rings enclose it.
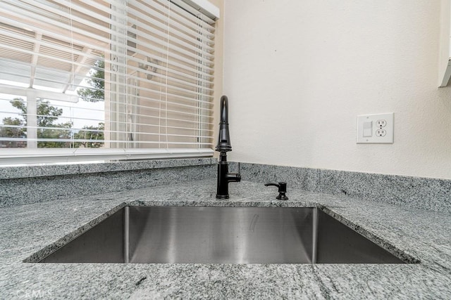
<instances>
[{"instance_id":1,"label":"grey speckled granite countertop surface surrounding the sink","mask_svg":"<svg viewBox=\"0 0 451 300\"><path fill-rule=\"evenodd\" d=\"M306 298L450 299L451 215L288 187L288 202L260 183L216 181L74 197L0 209L2 299ZM406 264L23 263L49 244L124 204L320 205L364 235L419 259Z\"/></svg>"}]
</instances>

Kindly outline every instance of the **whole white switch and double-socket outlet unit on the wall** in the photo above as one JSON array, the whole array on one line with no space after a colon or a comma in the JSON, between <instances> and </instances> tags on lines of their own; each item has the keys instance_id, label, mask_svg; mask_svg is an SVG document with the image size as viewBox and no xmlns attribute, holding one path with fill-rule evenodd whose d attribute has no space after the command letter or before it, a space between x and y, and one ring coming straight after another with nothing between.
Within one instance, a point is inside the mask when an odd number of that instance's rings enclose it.
<instances>
[{"instance_id":1,"label":"whole white switch and double-socket outlet unit on the wall","mask_svg":"<svg viewBox=\"0 0 451 300\"><path fill-rule=\"evenodd\" d=\"M393 112L357 116L357 143L393 144L394 120Z\"/></svg>"}]
</instances>

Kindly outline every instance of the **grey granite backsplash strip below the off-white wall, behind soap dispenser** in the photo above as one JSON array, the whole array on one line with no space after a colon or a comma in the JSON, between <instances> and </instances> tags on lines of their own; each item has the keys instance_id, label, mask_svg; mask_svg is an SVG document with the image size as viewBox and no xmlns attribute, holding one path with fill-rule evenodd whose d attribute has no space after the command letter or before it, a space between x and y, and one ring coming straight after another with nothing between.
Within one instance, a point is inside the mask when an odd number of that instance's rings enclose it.
<instances>
[{"instance_id":1,"label":"grey granite backsplash strip below the off-white wall, behind soap dispenser","mask_svg":"<svg viewBox=\"0 0 451 300\"><path fill-rule=\"evenodd\" d=\"M451 213L451 180L330 169L241 164L254 182L286 181L292 188Z\"/></svg>"}]
</instances>

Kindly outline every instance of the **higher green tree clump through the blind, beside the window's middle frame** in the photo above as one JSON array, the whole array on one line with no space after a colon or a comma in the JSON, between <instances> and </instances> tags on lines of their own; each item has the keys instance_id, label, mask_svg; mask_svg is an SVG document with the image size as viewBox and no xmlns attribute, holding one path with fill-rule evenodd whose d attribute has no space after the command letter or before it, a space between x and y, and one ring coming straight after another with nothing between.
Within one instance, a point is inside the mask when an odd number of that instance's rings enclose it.
<instances>
[{"instance_id":1,"label":"higher green tree clump through the blind, beside the window's middle frame","mask_svg":"<svg viewBox=\"0 0 451 300\"><path fill-rule=\"evenodd\" d=\"M103 101L105 98L105 61L96 60L94 68L90 73L91 78L87 80L87 83L92 86L92 88L78 89L78 96L88 102Z\"/></svg>"}]
</instances>

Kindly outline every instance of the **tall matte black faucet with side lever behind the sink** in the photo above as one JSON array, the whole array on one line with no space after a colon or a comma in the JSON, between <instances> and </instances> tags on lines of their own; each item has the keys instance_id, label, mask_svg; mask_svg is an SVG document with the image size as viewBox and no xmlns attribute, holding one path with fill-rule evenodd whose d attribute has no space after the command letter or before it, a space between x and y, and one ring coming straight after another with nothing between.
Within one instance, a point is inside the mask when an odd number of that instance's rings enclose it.
<instances>
[{"instance_id":1,"label":"tall matte black faucet with side lever behind the sink","mask_svg":"<svg viewBox=\"0 0 451 300\"><path fill-rule=\"evenodd\" d=\"M230 145L230 132L228 130L228 98L221 97L221 122L219 122L219 138L216 151L220 152L218 159L218 190L216 192L217 199L228 199L228 183L240 182L240 173L229 173L227 152L232 151Z\"/></svg>"}]
</instances>

